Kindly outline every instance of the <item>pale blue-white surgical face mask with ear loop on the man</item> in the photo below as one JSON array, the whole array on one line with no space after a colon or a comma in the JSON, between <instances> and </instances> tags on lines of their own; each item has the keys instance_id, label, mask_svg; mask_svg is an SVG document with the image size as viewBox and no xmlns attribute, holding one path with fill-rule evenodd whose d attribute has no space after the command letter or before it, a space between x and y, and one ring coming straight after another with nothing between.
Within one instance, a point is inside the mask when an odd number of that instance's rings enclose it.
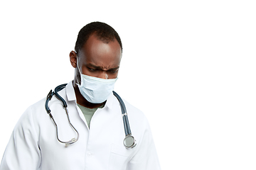
<instances>
[{"instance_id":1,"label":"pale blue-white surgical face mask with ear loop on the man","mask_svg":"<svg viewBox=\"0 0 256 170\"><path fill-rule=\"evenodd\" d=\"M82 96L90 103L103 103L106 101L114 90L114 83L117 81L117 78L100 79L97 77L90 77L82 74L79 66L78 70L81 75L81 84L78 84L78 89Z\"/></svg>"}]
</instances>

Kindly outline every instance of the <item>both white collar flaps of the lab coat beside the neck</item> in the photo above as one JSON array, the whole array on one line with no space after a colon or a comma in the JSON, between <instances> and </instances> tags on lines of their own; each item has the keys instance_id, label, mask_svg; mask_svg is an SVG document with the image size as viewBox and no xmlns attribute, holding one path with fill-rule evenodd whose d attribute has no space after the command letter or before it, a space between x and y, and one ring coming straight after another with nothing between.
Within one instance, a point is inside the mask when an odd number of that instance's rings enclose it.
<instances>
[{"instance_id":1,"label":"both white collar flaps of the lab coat beside the neck","mask_svg":"<svg viewBox=\"0 0 256 170\"><path fill-rule=\"evenodd\" d=\"M75 101L76 103L76 97L75 97L75 90L73 87L73 81L70 81L67 86L66 86L66 94L67 94L67 98L68 101ZM114 98L114 94L110 95L109 98L107 98L107 102L105 104L105 107L107 108L112 108L113 105L113 98Z\"/></svg>"}]
</instances>

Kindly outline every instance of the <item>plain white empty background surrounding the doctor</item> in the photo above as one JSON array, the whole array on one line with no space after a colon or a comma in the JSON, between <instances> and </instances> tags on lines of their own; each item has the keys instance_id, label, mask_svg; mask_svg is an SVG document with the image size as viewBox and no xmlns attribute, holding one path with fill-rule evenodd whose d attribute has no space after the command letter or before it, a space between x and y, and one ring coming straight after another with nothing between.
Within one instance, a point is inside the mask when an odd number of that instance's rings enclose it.
<instances>
[{"instance_id":1,"label":"plain white empty background surrounding the doctor","mask_svg":"<svg viewBox=\"0 0 256 170\"><path fill-rule=\"evenodd\" d=\"M23 111L73 79L80 28L119 33L115 90L144 111L162 169L256 169L254 1L1 1L0 159Z\"/></svg>"}]
</instances>

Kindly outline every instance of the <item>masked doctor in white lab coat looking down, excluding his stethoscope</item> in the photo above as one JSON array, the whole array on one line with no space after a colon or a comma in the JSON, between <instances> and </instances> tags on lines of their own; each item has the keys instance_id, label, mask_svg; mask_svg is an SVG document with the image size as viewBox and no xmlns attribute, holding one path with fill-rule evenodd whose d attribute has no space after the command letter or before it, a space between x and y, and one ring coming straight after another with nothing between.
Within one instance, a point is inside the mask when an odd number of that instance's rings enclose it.
<instances>
[{"instance_id":1,"label":"masked doctor in white lab coat looking down, excluding his stethoscope","mask_svg":"<svg viewBox=\"0 0 256 170\"><path fill-rule=\"evenodd\" d=\"M0 170L160 169L149 123L127 101L124 103L137 146L127 149L123 145L121 109L112 94L121 58L122 42L112 27L100 22L83 27L75 51L70 52L75 78L58 92L68 105L70 123L78 130L79 140L68 147L57 140L43 98L18 120ZM48 106L60 140L75 138L77 134L68 123L61 101L53 96Z\"/></svg>"}]
</instances>

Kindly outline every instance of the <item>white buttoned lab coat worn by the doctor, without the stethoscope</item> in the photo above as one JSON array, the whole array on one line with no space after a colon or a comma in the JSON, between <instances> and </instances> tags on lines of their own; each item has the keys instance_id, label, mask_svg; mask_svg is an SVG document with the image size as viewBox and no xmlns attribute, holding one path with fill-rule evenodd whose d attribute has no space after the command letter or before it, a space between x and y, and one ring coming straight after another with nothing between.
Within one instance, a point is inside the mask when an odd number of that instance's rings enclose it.
<instances>
[{"instance_id":1,"label":"white buttoned lab coat worn by the doctor, without the stethoscope","mask_svg":"<svg viewBox=\"0 0 256 170\"><path fill-rule=\"evenodd\" d=\"M123 145L124 125L115 96L107 99L92 117L90 130L70 83L59 92L68 104L70 122L78 130L78 142L65 147L56 138L55 125L45 110L46 98L30 106L21 116L6 147L0 170L158 170L159 159L149 123L144 114L124 101L137 147ZM60 140L76 137L68 124L62 103L53 96L49 107L58 125Z\"/></svg>"}]
</instances>

